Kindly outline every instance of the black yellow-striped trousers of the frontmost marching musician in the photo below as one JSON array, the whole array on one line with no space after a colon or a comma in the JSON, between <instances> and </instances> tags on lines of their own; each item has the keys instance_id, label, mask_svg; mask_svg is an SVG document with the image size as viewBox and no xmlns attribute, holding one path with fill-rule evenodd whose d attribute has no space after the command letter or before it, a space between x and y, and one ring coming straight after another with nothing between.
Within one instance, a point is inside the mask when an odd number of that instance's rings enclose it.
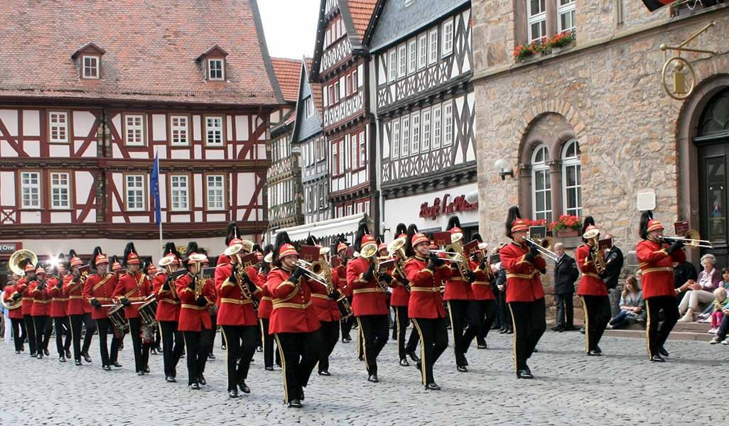
<instances>
[{"instance_id":1,"label":"black yellow-striped trousers of the frontmost marching musician","mask_svg":"<svg viewBox=\"0 0 729 426\"><path fill-rule=\"evenodd\" d=\"M321 334L277 333L276 344L281 353L284 376L284 402L301 399L302 387L306 387L316 363L321 357Z\"/></svg>"}]
</instances>

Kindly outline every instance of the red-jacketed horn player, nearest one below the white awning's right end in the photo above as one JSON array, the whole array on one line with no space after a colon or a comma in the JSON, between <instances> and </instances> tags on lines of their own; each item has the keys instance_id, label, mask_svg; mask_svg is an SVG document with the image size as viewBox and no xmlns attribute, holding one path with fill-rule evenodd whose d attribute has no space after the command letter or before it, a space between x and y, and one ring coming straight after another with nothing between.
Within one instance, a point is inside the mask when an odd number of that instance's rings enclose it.
<instances>
[{"instance_id":1,"label":"red-jacketed horn player, nearest one below the white awning's right end","mask_svg":"<svg viewBox=\"0 0 729 426\"><path fill-rule=\"evenodd\" d=\"M374 245L375 253L364 259L362 250ZM347 285L352 288L352 310L362 333L364 364L367 366L367 380L377 383L377 357L389 337L389 309L383 287L389 285L392 277L375 270L377 242L370 235L366 224L360 224L354 240L354 250L360 256L351 259L347 265ZM371 249L370 249L371 251ZM382 280L382 281L380 281Z\"/></svg>"}]
</instances>

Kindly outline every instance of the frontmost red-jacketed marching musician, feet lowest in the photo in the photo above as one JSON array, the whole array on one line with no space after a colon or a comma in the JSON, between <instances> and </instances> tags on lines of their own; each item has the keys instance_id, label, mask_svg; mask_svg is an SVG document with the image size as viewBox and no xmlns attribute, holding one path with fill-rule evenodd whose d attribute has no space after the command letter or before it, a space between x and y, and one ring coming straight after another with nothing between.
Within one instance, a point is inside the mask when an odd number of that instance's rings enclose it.
<instances>
[{"instance_id":1,"label":"frontmost red-jacketed marching musician, feet lowest in the photo","mask_svg":"<svg viewBox=\"0 0 729 426\"><path fill-rule=\"evenodd\" d=\"M308 280L298 267L299 253L285 231L276 234L273 269L268 274L268 291L273 297L268 331L276 336L284 376L284 402L301 408L311 370L321 356L319 320L311 304L312 288L323 286Z\"/></svg>"}]
</instances>

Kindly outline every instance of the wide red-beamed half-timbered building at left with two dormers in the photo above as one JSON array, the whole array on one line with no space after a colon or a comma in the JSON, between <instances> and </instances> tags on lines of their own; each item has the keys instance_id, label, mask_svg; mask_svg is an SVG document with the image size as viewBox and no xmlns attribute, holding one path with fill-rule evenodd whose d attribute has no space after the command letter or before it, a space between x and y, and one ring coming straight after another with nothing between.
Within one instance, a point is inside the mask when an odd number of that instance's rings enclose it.
<instances>
[{"instance_id":1,"label":"wide red-beamed half-timbered building at left with two dormers","mask_svg":"<svg viewBox=\"0 0 729 426\"><path fill-rule=\"evenodd\" d=\"M10 1L0 28L0 243L158 256L155 154L164 240L260 240L283 98L255 1Z\"/></svg>"}]
</instances>

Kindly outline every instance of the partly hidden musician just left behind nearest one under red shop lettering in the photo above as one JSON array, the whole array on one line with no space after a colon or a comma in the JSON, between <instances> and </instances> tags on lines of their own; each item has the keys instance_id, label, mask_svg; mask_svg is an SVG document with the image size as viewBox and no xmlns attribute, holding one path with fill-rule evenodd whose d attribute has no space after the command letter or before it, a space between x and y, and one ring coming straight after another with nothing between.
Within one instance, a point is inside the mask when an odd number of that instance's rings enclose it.
<instances>
[{"instance_id":1,"label":"partly hidden musician just left behind nearest one under red shop lettering","mask_svg":"<svg viewBox=\"0 0 729 426\"><path fill-rule=\"evenodd\" d=\"M410 232L412 233L410 234ZM405 227L405 224L397 224L397 228L395 229L397 238L405 240L405 246L403 246L402 251L400 251L400 253L405 253L405 256L403 256L405 259L398 260L399 262L402 262L403 265L415 254L413 253L412 248L408 251L408 248L410 247L408 240L412 238L416 232L418 232L417 226L411 224L410 232L408 232L408 228ZM410 237L408 237L408 234L410 234ZM394 256L397 257L397 254ZM410 323L410 317L408 317L410 283L408 282L408 277L402 277L397 268L392 272L392 277L394 280L390 282L390 288L392 288L390 306L395 310L394 328L395 337L397 338L397 354L399 355L400 366L407 367L410 366L410 363L408 363L405 355L410 355L410 359L412 359L413 362L418 362L420 360L415 352L418 347L418 342L420 341L420 335L418 334L418 331L413 328L413 330L410 331L408 344L405 344L405 332L408 331L408 323Z\"/></svg>"}]
</instances>

